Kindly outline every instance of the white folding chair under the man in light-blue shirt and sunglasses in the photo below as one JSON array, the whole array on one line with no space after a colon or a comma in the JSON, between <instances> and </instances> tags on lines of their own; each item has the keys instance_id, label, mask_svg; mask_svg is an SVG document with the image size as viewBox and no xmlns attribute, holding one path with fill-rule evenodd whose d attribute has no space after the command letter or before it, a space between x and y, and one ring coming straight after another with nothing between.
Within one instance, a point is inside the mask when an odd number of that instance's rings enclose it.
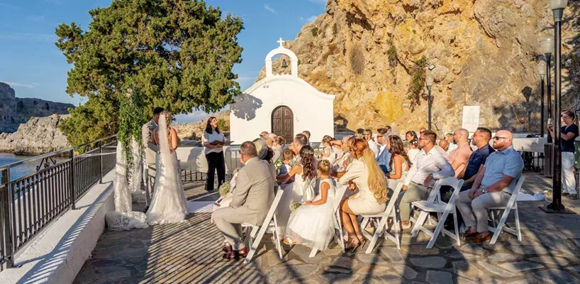
<instances>
[{"instance_id":1,"label":"white folding chair under the man in light-blue shirt and sunglasses","mask_svg":"<svg viewBox=\"0 0 580 284\"><path fill-rule=\"evenodd\" d=\"M488 226L489 231L493 231L493 237L491 238L489 244L496 244L498 236L502 230L517 236L518 241L522 241L522 234L520 232L520 213L518 212L518 192L520 192L520 188L523 185L524 179L525 177L521 176L520 179L518 180L518 183L515 185L513 194L511 195L510 200L508 201L506 207L489 208L489 210L491 211L491 223L493 224L493 226ZM496 226L496 213L499 216L500 210L503 210L503 214L501 214L501 219L499 219L499 222ZM511 210L513 210L515 214L515 230L505 226L506 220L508 219Z\"/></svg>"}]
</instances>

